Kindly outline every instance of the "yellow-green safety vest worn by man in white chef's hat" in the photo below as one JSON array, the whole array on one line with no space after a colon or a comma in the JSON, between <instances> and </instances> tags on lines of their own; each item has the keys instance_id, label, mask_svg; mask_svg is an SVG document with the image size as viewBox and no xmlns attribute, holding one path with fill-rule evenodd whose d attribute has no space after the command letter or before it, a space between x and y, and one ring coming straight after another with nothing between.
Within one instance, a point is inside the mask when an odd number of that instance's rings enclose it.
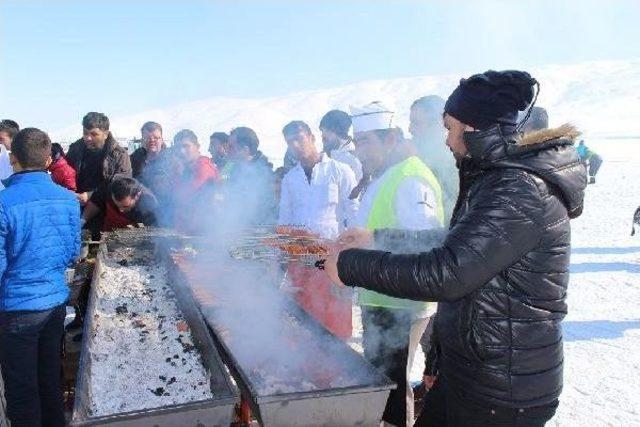
<instances>
[{"instance_id":1,"label":"yellow-green safety vest worn by man in white chef's hat","mask_svg":"<svg viewBox=\"0 0 640 427\"><path fill-rule=\"evenodd\" d=\"M373 199L371 212L367 219L366 228L368 230L394 228L398 226L395 201L400 184L407 178L419 179L433 189L436 196L436 216L438 217L440 225L444 226L444 205L440 183L422 160L416 156L412 156L389 169L385 181ZM393 298L367 289L358 289L358 302L360 305L370 307L399 308L416 311L425 310L428 304L422 301Z\"/></svg>"}]
</instances>

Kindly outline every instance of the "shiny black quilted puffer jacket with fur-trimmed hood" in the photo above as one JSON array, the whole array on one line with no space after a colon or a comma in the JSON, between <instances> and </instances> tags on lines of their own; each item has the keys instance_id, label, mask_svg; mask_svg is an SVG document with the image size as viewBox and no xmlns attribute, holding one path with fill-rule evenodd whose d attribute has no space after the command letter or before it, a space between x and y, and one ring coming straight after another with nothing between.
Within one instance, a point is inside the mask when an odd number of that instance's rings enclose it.
<instances>
[{"instance_id":1,"label":"shiny black quilted puffer jacket with fur-trimmed hood","mask_svg":"<svg viewBox=\"0 0 640 427\"><path fill-rule=\"evenodd\" d=\"M587 183L576 134L570 126L522 139L498 127L465 134L470 159L439 247L340 254L344 283L440 301L439 372L477 401L530 407L560 395L569 219L582 212Z\"/></svg>"}]
</instances>

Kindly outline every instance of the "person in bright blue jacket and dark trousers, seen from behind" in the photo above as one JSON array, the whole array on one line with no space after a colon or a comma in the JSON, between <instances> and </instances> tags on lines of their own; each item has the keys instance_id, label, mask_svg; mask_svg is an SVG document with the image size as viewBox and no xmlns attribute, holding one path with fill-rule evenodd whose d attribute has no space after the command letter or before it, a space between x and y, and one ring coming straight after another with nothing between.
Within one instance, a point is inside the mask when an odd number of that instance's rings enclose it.
<instances>
[{"instance_id":1,"label":"person in bright blue jacket and dark trousers, seen from behind","mask_svg":"<svg viewBox=\"0 0 640 427\"><path fill-rule=\"evenodd\" d=\"M80 252L80 205L46 172L46 133L23 129L11 149L15 173L0 192L0 365L7 415L13 427L64 426L64 273Z\"/></svg>"}]
</instances>

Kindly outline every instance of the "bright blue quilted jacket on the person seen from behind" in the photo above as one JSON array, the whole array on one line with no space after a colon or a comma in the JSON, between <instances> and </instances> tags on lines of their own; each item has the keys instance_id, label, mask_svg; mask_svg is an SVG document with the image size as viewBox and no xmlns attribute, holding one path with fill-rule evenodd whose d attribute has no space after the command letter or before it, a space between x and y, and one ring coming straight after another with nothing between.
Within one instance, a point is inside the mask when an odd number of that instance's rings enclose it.
<instances>
[{"instance_id":1,"label":"bright blue quilted jacket on the person seen from behind","mask_svg":"<svg viewBox=\"0 0 640 427\"><path fill-rule=\"evenodd\" d=\"M65 269L80 253L80 204L44 171L3 181L0 311L42 311L69 296Z\"/></svg>"}]
</instances>

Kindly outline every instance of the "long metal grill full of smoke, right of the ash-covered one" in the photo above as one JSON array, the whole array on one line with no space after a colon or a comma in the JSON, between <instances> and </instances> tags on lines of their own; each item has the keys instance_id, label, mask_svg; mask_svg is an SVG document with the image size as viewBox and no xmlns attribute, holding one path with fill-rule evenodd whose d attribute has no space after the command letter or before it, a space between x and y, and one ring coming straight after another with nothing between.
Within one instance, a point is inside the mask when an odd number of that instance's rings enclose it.
<instances>
[{"instance_id":1,"label":"long metal grill full of smoke, right of the ash-covered one","mask_svg":"<svg viewBox=\"0 0 640 427\"><path fill-rule=\"evenodd\" d=\"M274 237L258 231L236 235L229 247ZM227 245L192 250L186 240L185 250L173 243L174 280L188 283L263 426L379 424L394 384L280 292L279 256L235 259Z\"/></svg>"}]
</instances>

